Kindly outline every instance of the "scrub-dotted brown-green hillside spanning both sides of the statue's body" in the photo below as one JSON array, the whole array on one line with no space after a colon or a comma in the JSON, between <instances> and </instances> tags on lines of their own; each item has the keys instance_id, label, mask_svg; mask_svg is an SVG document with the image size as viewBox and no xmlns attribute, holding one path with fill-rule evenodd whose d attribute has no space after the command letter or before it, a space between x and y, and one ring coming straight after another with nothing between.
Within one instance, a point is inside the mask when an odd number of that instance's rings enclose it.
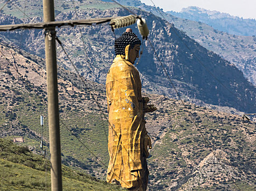
<instances>
[{"instance_id":1,"label":"scrub-dotted brown-green hillside spanning both sides of the statue's body","mask_svg":"<svg viewBox=\"0 0 256 191\"><path fill-rule=\"evenodd\" d=\"M44 62L17 47L2 45L1 52L1 137L23 136L25 142L21 144L39 153L39 115L43 114L44 146L49 154L47 112L45 102L41 101L45 100ZM75 74L59 67L62 163L105 179L108 155L104 86L87 83L89 87L83 87ZM92 95L102 108L96 106ZM153 142L149 190L256 188L254 122L189 102L183 106L178 100L156 94L144 92L144 96L150 97L158 108L146 115L146 128ZM22 164L27 163L26 158L21 158ZM38 172L38 176L43 180L45 172Z\"/></svg>"}]
</instances>

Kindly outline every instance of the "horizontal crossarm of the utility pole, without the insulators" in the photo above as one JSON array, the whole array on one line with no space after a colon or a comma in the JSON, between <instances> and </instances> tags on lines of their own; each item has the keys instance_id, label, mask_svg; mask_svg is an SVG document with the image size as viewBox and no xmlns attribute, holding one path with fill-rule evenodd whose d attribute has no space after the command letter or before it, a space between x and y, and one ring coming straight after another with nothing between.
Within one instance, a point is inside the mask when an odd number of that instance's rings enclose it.
<instances>
[{"instance_id":1,"label":"horizontal crossarm of the utility pole, without the insulators","mask_svg":"<svg viewBox=\"0 0 256 191\"><path fill-rule=\"evenodd\" d=\"M95 19L83 19L83 20L70 20L70 21L51 21L51 22L37 22L37 23L25 23L18 25L0 25L0 31L13 31L15 29L28 29L28 28L54 28L62 26L76 26L76 25L99 25L101 23L110 22L112 19L120 18L116 17L104 17Z\"/></svg>"}]
</instances>

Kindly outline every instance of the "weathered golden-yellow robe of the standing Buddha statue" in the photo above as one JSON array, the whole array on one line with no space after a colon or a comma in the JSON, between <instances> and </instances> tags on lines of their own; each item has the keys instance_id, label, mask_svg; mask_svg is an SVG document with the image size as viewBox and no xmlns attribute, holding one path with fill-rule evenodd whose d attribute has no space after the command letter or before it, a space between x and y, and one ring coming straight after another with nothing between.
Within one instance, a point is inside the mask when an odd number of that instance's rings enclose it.
<instances>
[{"instance_id":1,"label":"weathered golden-yellow robe of the standing Buddha statue","mask_svg":"<svg viewBox=\"0 0 256 191\"><path fill-rule=\"evenodd\" d=\"M109 168L107 182L145 190L149 171L143 141L147 134L138 70L117 55L106 79L109 112Z\"/></svg>"}]
</instances>

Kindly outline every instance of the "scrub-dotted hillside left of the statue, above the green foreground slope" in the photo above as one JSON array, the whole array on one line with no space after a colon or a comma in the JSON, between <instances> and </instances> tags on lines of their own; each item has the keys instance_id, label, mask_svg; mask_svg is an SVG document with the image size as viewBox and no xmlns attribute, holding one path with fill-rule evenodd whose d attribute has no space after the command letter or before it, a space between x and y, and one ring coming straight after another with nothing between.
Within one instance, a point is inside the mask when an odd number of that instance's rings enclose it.
<instances>
[{"instance_id":1,"label":"scrub-dotted hillside left of the statue, above the green foreground slope","mask_svg":"<svg viewBox=\"0 0 256 191\"><path fill-rule=\"evenodd\" d=\"M25 145L31 146L33 152L41 152L39 116L43 115L44 145L49 154L44 61L19 49L3 46L3 42L1 44L0 135L2 138L23 136ZM105 174L108 153L107 130L103 127L107 122L99 111L105 111L106 105L98 108L92 99L96 97L99 103L105 102L105 90L89 81L85 87L77 75L61 67L58 83L62 162L82 168L93 176ZM88 150L96 153L96 157ZM98 169L95 170L95 166Z\"/></svg>"}]
</instances>

